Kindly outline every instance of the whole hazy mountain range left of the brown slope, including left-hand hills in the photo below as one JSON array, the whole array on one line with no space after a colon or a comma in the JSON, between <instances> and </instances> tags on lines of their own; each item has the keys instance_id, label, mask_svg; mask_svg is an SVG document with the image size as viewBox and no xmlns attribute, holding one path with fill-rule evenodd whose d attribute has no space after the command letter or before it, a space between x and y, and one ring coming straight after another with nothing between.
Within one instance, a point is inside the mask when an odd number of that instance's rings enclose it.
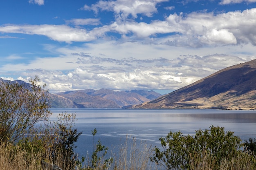
<instances>
[{"instance_id":1,"label":"whole hazy mountain range left of the brown slope, including left-hand hills","mask_svg":"<svg viewBox=\"0 0 256 170\"><path fill-rule=\"evenodd\" d=\"M26 88L30 87L29 83L21 80L9 81L0 78L0 84L2 82L24 84ZM126 108L151 101L159 96L161 94L155 91L112 91L104 88L67 91L57 94L48 93L51 108Z\"/></svg>"}]
</instances>

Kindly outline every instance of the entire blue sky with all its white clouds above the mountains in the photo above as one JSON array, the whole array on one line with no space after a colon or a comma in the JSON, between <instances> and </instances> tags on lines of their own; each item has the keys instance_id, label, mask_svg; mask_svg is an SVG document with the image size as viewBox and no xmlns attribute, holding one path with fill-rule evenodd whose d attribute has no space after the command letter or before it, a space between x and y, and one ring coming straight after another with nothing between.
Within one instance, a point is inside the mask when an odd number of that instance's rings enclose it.
<instances>
[{"instance_id":1,"label":"entire blue sky with all its white clouds above the mountains","mask_svg":"<svg viewBox=\"0 0 256 170\"><path fill-rule=\"evenodd\" d=\"M0 77L52 93L166 93L256 59L256 0L3 0L0 16Z\"/></svg>"}]
</instances>

